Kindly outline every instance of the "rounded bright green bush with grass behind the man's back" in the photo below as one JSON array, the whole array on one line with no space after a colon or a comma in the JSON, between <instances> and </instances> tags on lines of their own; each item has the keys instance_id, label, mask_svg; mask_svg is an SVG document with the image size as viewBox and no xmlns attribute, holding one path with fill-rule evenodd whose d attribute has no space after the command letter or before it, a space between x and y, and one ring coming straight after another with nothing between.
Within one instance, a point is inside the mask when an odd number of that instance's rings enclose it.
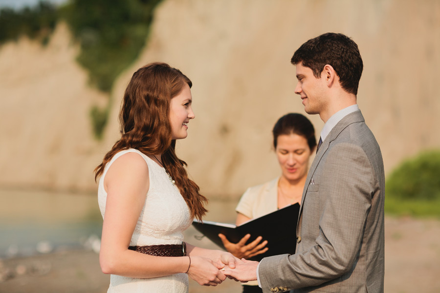
<instances>
[{"instance_id":1,"label":"rounded bright green bush with grass behind the man's back","mask_svg":"<svg viewBox=\"0 0 440 293\"><path fill-rule=\"evenodd\" d=\"M440 151L404 161L388 176L385 211L396 215L440 217Z\"/></svg>"}]
</instances>

